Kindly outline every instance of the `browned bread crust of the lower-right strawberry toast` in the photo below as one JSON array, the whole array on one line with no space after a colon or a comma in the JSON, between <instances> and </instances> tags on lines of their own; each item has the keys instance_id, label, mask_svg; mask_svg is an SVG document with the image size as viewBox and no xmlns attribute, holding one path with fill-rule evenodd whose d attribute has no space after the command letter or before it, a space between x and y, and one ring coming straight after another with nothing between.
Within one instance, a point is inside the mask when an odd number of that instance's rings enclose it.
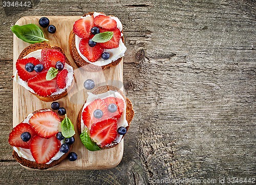
<instances>
[{"instance_id":1,"label":"browned bread crust of the lower-right strawberry toast","mask_svg":"<svg viewBox=\"0 0 256 185\"><path fill-rule=\"evenodd\" d=\"M123 97L123 99L125 100L125 103L126 103L126 121L128 123L128 126L125 127L126 130L128 131L129 127L130 127L130 124L133 120L133 117L134 117L134 109L133 109L133 104L132 102L126 98L123 94L123 92L117 88L117 87L114 87L114 86L109 86L109 85L104 85L104 86L100 86L98 88L96 88L94 91L93 91L93 94L95 95L98 95L98 94L102 94L104 92L107 92L109 90L116 90L119 92L119 94ZM85 104L86 102L84 102ZM83 107L83 106L82 106ZM77 117L77 131L79 133L79 135L81 134L81 116L82 116L82 108L80 109L79 113L78 113L78 117ZM124 137L124 135L122 136L122 138ZM102 147L100 145L98 145L98 147L100 148L113 148L115 147L116 145L118 145L118 143L116 142L113 142L111 143L110 145L108 146L105 146L105 147Z\"/></svg>"}]
</instances>

